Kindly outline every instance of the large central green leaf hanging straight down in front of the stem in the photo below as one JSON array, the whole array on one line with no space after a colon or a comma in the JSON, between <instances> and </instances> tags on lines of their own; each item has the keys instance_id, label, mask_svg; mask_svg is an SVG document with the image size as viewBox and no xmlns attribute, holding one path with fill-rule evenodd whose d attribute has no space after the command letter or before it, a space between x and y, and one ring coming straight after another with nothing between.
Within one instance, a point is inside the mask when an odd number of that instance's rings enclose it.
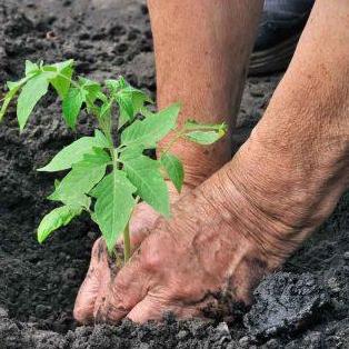
<instances>
[{"instance_id":1,"label":"large central green leaf hanging straight down in front of the stem","mask_svg":"<svg viewBox=\"0 0 349 349\"><path fill-rule=\"evenodd\" d=\"M136 206L134 191L124 172L116 169L93 190L97 197L93 219L102 231L109 252L130 220Z\"/></svg>"}]
</instances>

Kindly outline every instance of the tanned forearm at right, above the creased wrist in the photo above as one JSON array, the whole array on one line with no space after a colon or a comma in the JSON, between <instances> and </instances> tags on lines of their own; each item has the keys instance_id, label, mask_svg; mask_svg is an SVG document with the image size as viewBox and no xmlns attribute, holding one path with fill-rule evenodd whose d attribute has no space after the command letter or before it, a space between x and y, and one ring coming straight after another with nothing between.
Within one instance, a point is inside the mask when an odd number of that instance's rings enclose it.
<instances>
[{"instance_id":1,"label":"tanned forearm at right, above the creased wrist","mask_svg":"<svg viewBox=\"0 0 349 349\"><path fill-rule=\"evenodd\" d=\"M348 166L348 16L346 1L317 1L293 60L252 134L266 150L309 170L307 176L322 166Z\"/></svg>"}]
</instances>

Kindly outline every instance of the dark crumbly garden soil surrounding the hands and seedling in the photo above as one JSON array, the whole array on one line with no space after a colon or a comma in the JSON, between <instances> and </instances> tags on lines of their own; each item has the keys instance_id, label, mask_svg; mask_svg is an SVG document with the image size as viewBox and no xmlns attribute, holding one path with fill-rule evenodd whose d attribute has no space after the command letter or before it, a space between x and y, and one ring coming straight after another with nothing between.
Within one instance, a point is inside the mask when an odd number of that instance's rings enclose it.
<instances>
[{"instance_id":1,"label":"dark crumbly garden soil surrounding the hands and seedling","mask_svg":"<svg viewBox=\"0 0 349 349\"><path fill-rule=\"evenodd\" d=\"M24 59L74 58L97 79L123 74L154 92L152 41L142 0L1 0L0 82L22 74ZM249 79L235 147L249 134L279 81ZM53 94L52 94L53 96ZM0 349L8 348L349 348L349 195L330 219L256 290L241 319L76 328L72 306L97 227L82 218L44 246L36 227L51 209L52 178L36 172L62 146L89 134L68 131L48 97L19 136L13 110L0 126ZM227 321L227 320L226 320ZM229 326L228 326L229 325Z\"/></svg>"}]
</instances>

